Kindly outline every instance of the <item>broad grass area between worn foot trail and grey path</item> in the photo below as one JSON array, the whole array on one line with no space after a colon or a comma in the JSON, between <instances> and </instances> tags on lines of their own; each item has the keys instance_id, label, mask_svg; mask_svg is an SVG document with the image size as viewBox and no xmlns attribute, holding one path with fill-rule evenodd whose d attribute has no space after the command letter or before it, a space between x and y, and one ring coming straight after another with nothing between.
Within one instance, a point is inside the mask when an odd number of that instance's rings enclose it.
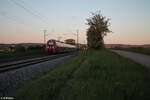
<instances>
[{"instance_id":1,"label":"broad grass area between worn foot trail and grey path","mask_svg":"<svg viewBox=\"0 0 150 100\"><path fill-rule=\"evenodd\" d=\"M150 69L108 50L90 50L59 99L150 100Z\"/></svg>"}]
</instances>

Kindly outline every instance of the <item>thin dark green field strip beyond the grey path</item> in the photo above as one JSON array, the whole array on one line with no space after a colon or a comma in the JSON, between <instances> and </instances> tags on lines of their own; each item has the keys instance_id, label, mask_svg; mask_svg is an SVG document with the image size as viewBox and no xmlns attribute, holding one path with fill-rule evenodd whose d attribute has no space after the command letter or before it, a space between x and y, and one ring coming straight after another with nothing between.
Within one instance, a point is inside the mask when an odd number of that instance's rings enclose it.
<instances>
[{"instance_id":1,"label":"thin dark green field strip beyond the grey path","mask_svg":"<svg viewBox=\"0 0 150 100\"><path fill-rule=\"evenodd\" d=\"M131 51L136 53L142 53L146 55L150 55L150 48L143 48L143 47L131 47L131 48L113 48L117 50L125 50L125 51Z\"/></svg>"}]
</instances>

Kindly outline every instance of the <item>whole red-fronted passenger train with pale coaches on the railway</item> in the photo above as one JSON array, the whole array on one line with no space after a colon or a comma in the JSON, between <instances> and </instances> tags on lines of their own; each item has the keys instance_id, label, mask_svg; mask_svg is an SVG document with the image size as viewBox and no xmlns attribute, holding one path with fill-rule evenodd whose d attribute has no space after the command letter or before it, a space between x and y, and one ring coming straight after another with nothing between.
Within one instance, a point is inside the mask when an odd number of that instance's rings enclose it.
<instances>
[{"instance_id":1,"label":"whole red-fronted passenger train with pale coaches on the railway","mask_svg":"<svg viewBox=\"0 0 150 100\"><path fill-rule=\"evenodd\" d=\"M66 44L57 40L48 40L46 43L45 51L47 53L62 53L76 50L75 45Z\"/></svg>"}]
</instances>

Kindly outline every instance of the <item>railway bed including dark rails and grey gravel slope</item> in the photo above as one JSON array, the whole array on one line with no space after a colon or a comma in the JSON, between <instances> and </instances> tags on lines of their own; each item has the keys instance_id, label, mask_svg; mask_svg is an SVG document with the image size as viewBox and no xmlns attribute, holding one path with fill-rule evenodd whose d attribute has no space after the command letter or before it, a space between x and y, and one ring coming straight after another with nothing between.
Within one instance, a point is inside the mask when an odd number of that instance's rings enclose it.
<instances>
[{"instance_id":1,"label":"railway bed including dark rails and grey gravel slope","mask_svg":"<svg viewBox=\"0 0 150 100\"><path fill-rule=\"evenodd\" d=\"M23 87L32 80L45 75L74 55L76 53L51 55L1 65L0 96L9 96L16 88Z\"/></svg>"}]
</instances>

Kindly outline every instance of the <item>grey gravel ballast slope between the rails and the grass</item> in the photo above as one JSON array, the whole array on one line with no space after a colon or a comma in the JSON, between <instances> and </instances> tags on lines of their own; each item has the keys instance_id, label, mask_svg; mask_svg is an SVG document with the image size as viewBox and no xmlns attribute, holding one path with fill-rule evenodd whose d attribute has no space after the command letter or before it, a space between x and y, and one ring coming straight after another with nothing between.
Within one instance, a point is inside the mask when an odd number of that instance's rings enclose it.
<instances>
[{"instance_id":1,"label":"grey gravel ballast slope between the rails and the grass","mask_svg":"<svg viewBox=\"0 0 150 100\"><path fill-rule=\"evenodd\" d=\"M9 72L0 73L0 97L9 96L9 94L15 89L20 88L33 79L51 71L72 56L73 55L69 55Z\"/></svg>"}]
</instances>

